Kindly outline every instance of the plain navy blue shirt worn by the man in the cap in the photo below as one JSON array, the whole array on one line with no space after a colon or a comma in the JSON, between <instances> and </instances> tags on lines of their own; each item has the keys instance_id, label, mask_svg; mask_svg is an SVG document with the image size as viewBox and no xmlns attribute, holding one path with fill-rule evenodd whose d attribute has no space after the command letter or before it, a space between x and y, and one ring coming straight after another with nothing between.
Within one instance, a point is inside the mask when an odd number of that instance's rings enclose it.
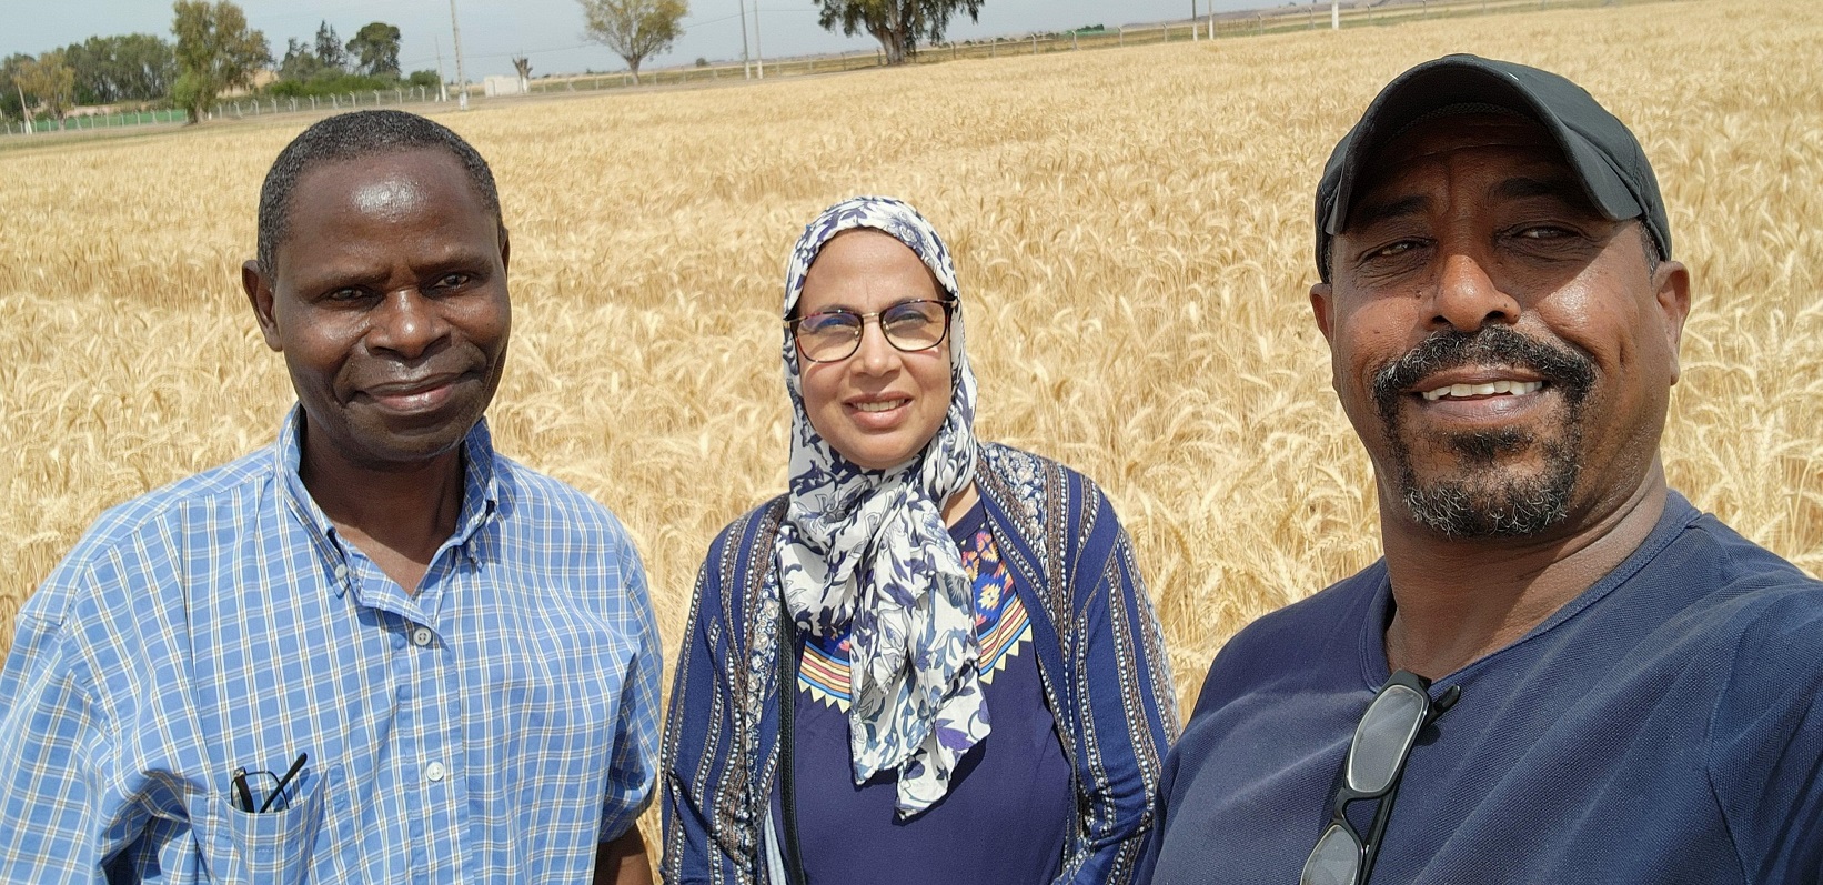
<instances>
[{"instance_id":1,"label":"plain navy blue shirt worn by the man in the cap","mask_svg":"<svg viewBox=\"0 0 1823 885\"><path fill-rule=\"evenodd\" d=\"M1154 883L1298 881L1389 675L1389 604L1380 562L1221 650L1165 765ZM1433 697L1451 684L1375 883L1823 881L1823 584L1681 495ZM1365 828L1373 803L1356 810Z\"/></svg>"}]
</instances>

